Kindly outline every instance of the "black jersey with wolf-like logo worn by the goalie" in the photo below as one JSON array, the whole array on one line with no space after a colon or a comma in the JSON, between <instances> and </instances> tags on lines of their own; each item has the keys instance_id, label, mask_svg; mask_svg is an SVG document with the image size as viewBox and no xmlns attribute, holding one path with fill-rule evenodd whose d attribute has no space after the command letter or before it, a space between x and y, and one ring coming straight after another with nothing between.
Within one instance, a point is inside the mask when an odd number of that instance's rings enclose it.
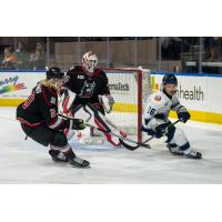
<instances>
[{"instance_id":1,"label":"black jersey with wolf-like logo worn by the goalie","mask_svg":"<svg viewBox=\"0 0 222 222\"><path fill-rule=\"evenodd\" d=\"M89 75L81 65L71 68L67 72L64 87L77 94L73 105L91 103L103 112L99 95L110 94L108 78L103 70L95 69Z\"/></svg>"}]
</instances>

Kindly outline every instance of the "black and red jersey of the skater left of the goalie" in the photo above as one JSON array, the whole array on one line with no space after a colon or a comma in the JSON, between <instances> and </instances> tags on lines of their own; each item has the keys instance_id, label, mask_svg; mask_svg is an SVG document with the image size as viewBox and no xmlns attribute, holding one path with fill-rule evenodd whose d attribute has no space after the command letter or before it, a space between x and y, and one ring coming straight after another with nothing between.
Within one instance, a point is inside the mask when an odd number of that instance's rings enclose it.
<instances>
[{"instance_id":1,"label":"black and red jersey of the skater left of the goalie","mask_svg":"<svg viewBox=\"0 0 222 222\"><path fill-rule=\"evenodd\" d=\"M30 97L18 105L17 119L28 125L47 123L49 128L62 130L69 127L69 120L58 117L58 95L53 88L38 83Z\"/></svg>"}]
</instances>

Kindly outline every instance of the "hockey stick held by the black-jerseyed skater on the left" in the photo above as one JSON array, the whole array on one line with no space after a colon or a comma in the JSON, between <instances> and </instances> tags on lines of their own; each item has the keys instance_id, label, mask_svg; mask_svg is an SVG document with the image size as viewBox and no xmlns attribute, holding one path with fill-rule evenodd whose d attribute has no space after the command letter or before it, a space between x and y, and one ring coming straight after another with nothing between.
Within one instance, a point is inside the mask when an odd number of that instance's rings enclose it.
<instances>
[{"instance_id":1,"label":"hockey stick held by the black-jerseyed skater on the left","mask_svg":"<svg viewBox=\"0 0 222 222\"><path fill-rule=\"evenodd\" d=\"M62 117L62 118L64 118L64 119L73 120L73 118L68 117L68 115L64 115L64 114L61 114L61 113L59 113L59 115ZM104 133L108 133L108 134L111 134L111 135L113 135L113 137L119 138L120 143L121 143L125 149L131 150L131 151L138 149L139 147L145 147L145 148L149 148L149 147L150 147L149 144L144 144L144 143L141 143L141 142L131 140L131 139L129 139L129 138L124 138L124 137L122 137L122 135L119 135L119 134L112 132L111 130L103 130L103 129L97 128L97 127L94 127L94 125L91 125L91 124L89 124L89 123L87 123L87 122L83 122L82 124L83 124L84 127L93 128L93 129L97 129L97 130L100 131L100 132L104 132ZM134 143L135 147L132 147L132 145L125 143L124 141Z\"/></svg>"}]
</instances>

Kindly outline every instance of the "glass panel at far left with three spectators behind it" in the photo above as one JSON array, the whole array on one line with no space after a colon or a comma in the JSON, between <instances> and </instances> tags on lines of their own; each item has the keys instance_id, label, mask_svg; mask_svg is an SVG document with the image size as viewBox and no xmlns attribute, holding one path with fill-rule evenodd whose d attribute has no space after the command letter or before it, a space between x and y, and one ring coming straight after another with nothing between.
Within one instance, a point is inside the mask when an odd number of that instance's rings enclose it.
<instances>
[{"instance_id":1,"label":"glass panel at far left with three spectators behind it","mask_svg":"<svg viewBox=\"0 0 222 222\"><path fill-rule=\"evenodd\" d=\"M44 70L47 38L0 38L2 70Z\"/></svg>"}]
</instances>

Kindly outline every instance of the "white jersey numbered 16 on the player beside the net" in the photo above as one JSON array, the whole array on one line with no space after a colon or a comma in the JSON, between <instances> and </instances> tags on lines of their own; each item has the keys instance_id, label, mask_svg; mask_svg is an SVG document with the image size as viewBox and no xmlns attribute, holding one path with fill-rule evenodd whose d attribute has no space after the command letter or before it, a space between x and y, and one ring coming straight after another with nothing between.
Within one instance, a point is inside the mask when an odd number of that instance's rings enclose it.
<instances>
[{"instance_id":1,"label":"white jersey numbered 16 on the player beside the net","mask_svg":"<svg viewBox=\"0 0 222 222\"><path fill-rule=\"evenodd\" d=\"M142 125L143 129L154 129L157 125L169 122L169 113L171 110L183 112L186 109L180 104L176 95L169 95L164 90L151 94L147 100L143 111Z\"/></svg>"}]
</instances>

